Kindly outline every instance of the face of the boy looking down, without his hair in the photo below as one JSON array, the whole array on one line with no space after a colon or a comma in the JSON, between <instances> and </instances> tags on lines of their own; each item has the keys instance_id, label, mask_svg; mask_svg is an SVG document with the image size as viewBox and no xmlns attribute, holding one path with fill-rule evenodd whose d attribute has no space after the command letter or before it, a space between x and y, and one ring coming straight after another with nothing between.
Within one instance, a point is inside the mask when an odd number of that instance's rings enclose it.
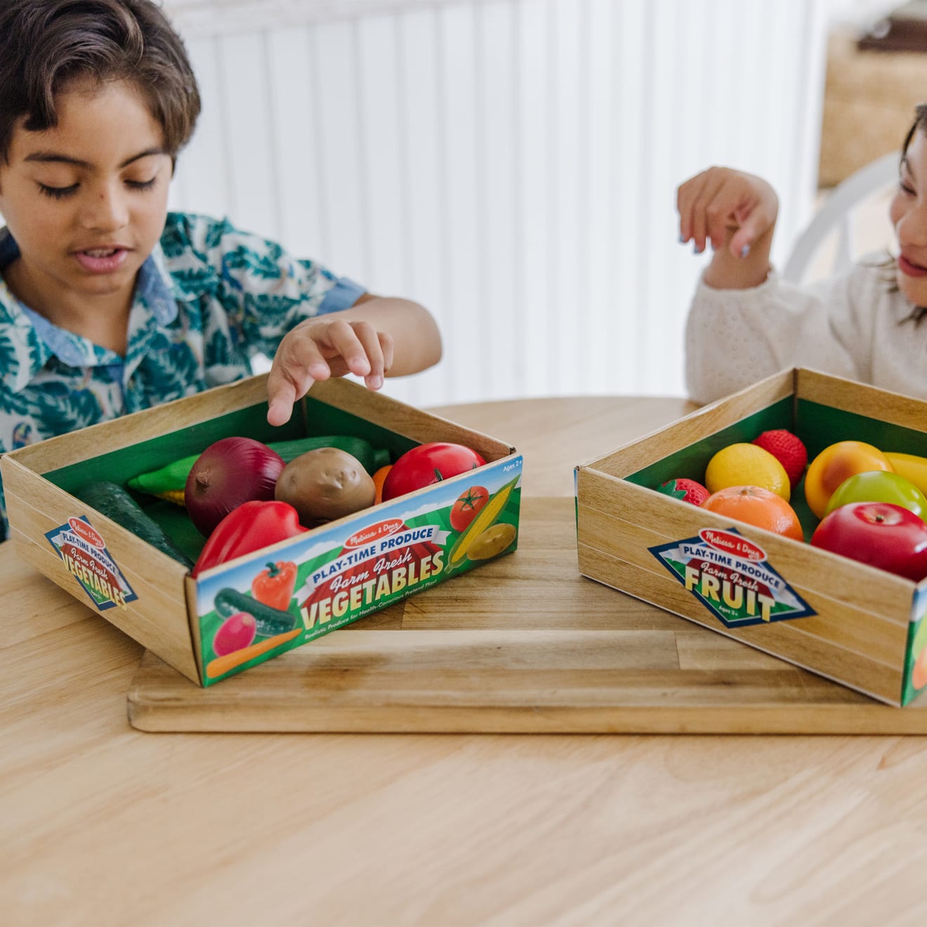
<instances>
[{"instance_id":1,"label":"face of the boy looking down, without his hair","mask_svg":"<svg viewBox=\"0 0 927 927\"><path fill-rule=\"evenodd\" d=\"M0 162L17 279L45 302L128 298L164 228L172 165L161 127L129 83L77 83L56 104L57 126L20 123Z\"/></svg>"}]
</instances>

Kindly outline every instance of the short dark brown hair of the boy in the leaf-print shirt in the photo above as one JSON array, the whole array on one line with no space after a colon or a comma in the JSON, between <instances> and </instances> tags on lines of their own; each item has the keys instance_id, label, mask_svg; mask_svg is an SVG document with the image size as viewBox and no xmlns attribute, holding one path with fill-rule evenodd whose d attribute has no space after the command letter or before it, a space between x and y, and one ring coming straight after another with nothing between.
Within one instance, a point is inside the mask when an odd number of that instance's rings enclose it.
<instances>
[{"instance_id":1,"label":"short dark brown hair of the boy in the leaf-print shirt","mask_svg":"<svg viewBox=\"0 0 927 927\"><path fill-rule=\"evenodd\" d=\"M0 0L0 160L17 121L57 125L73 81L127 81L145 96L171 158L189 141L199 92L184 43L151 0Z\"/></svg>"}]
</instances>

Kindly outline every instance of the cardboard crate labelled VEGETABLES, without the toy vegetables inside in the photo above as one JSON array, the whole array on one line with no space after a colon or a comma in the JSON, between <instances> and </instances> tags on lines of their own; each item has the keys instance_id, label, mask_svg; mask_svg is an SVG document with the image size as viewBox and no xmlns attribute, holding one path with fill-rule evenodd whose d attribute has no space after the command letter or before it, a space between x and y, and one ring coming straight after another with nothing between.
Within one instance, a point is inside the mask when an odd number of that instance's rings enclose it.
<instances>
[{"instance_id":1,"label":"cardboard crate labelled VEGETABLES, without the toy vegetables inside","mask_svg":"<svg viewBox=\"0 0 927 927\"><path fill-rule=\"evenodd\" d=\"M22 559L203 686L514 551L517 544L522 458L510 445L342 379L315 383L291 421L272 428L266 385L266 375L250 377L50 438L0 461L10 534ZM450 441L477 451L487 463L197 578L78 498L88 482L105 478L125 485L239 435L263 443L354 435L388 451L391 460L417 444ZM488 501L462 527L452 517L454 503L477 485ZM136 498L173 544L196 560L205 539L184 509ZM264 604L269 592L276 607ZM256 632L247 646L230 650L227 639L216 643L216 635L236 613L253 613Z\"/></svg>"}]
</instances>

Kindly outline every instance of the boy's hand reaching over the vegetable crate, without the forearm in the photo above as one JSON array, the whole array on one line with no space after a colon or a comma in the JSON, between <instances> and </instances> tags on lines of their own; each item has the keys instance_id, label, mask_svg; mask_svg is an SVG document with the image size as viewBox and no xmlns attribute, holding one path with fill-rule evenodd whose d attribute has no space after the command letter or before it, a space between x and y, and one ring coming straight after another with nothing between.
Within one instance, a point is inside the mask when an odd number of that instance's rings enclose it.
<instances>
[{"instance_id":1,"label":"boy's hand reaching over the vegetable crate, without the forearm","mask_svg":"<svg viewBox=\"0 0 927 927\"><path fill-rule=\"evenodd\" d=\"M393 363L393 338L370 322L336 312L300 322L280 342L267 379L267 421L284 425L293 403L316 380L355 374L370 389L383 386ZM339 318L341 316L341 318Z\"/></svg>"}]
</instances>

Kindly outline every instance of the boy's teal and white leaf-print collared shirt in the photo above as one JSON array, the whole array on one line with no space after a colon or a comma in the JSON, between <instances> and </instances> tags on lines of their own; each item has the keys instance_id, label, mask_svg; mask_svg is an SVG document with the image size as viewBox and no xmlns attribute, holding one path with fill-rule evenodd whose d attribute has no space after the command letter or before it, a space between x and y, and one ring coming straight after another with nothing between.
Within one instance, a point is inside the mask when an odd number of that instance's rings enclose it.
<instances>
[{"instance_id":1,"label":"boy's teal and white leaf-print collared shirt","mask_svg":"<svg viewBox=\"0 0 927 927\"><path fill-rule=\"evenodd\" d=\"M0 229L0 271L18 256ZM363 292L225 220L171 212L138 272L123 357L51 324L0 279L0 453L248 376L300 320Z\"/></svg>"}]
</instances>

